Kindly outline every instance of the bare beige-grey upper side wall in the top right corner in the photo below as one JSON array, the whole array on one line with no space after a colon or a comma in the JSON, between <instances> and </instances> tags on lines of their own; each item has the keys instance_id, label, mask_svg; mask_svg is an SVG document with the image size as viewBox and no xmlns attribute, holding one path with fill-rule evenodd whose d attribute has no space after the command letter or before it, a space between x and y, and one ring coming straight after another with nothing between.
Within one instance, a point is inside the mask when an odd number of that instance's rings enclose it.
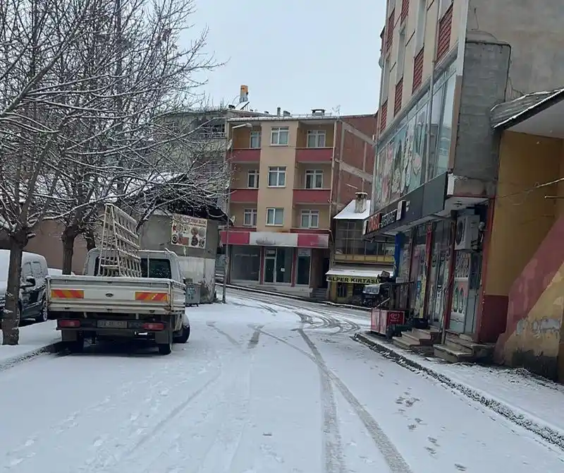
<instances>
[{"instance_id":1,"label":"bare beige-grey upper side wall in the top right corner","mask_svg":"<svg viewBox=\"0 0 564 473\"><path fill-rule=\"evenodd\" d=\"M469 7L469 38L511 45L507 99L562 86L564 7L560 0L469 0Z\"/></svg>"}]
</instances>

